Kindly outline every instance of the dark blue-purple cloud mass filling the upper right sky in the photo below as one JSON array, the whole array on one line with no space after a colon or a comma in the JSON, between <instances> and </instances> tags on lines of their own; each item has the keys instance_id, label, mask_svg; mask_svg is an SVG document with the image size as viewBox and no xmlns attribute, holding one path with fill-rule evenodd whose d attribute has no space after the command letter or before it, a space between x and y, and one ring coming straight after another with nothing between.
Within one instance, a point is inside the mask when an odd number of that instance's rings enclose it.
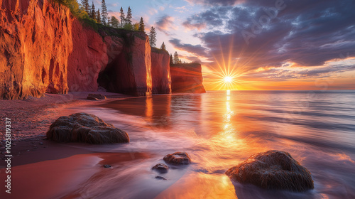
<instances>
[{"instance_id":1,"label":"dark blue-purple cloud mass filling the upper right sky","mask_svg":"<svg viewBox=\"0 0 355 199\"><path fill-rule=\"evenodd\" d=\"M264 66L323 65L355 54L355 1L194 1L209 9L183 23L198 33L211 56L220 60L230 50L249 70ZM212 6L224 5L224 6ZM223 28L223 30L222 30ZM222 48L221 48L222 46ZM190 49L192 50L192 49ZM193 51L191 51L193 53ZM214 59L211 59L214 61Z\"/></svg>"}]
</instances>

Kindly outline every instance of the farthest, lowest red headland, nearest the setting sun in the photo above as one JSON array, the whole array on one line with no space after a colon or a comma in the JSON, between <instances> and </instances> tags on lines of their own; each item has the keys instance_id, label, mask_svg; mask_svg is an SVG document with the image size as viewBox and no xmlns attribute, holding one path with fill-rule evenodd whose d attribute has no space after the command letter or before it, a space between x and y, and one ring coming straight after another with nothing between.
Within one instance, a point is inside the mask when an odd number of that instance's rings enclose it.
<instances>
[{"instance_id":1,"label":"farthest, lowest red headland, nearest the setting sun","mask_svg":"<svg viewBox=\"0 0 355 199\"><path fill-rule=\"evenodd\" d=\"M206 92L200 63L170 65L172 92Z\"/></svg>"}]
</instances>

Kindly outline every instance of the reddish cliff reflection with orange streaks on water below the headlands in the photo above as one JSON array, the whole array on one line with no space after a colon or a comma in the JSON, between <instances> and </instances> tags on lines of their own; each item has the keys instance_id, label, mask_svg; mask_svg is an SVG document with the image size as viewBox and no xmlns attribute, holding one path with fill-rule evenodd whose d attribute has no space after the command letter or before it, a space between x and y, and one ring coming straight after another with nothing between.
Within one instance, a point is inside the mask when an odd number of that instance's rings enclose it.
<instances>
[{"instance_id":1,"label":"reddish cliff reflection with orange streaks on water below the headlands","mask_svg":"<svg viewBox=\"0 0 355 199\"><path fill-rule=\"evenodd\" d=\"M171 128L172 120L199 125L201 119L201 95L154 95L117 100L102 106L143 117L153 127Z\"/></svg>"}]
</instances>

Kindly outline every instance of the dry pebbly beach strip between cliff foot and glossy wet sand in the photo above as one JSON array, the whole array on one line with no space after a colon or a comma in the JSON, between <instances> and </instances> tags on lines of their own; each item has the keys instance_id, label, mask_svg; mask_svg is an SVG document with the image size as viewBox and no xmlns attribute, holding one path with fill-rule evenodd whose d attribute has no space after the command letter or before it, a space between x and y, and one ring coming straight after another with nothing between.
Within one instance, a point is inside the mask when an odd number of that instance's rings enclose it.
<instances>
[{"instance_id":1,"label":"dry pebbly beach strip between cliff foot and glossy wet sand","mask_svg":"<svg viewBox=\"0 0 355 199\"><path fill-rule=\"evenodd\" d=\"M88 100L87 95L101 94L107 99ZM118 99L126 99L129 95L121 95L112 92L70 92L66 95L45 94L44 97L28 97L28 99L0 100L1 124L5 128L6 118L11 119L11 166L19 166L27 163L45 161L48 158L60 158L62 153L48 154L48 151L60 151L67 147L60 143L48 141L46 132L50 124L58 117L72 114L67 111L71 107L89 107L107 103ZM82 154L84 151L65 150L69 154ZM38 156L37 154L40 154ZM65 153L64 153L65 154ZM69 155L67 154L67 155ZM5 134L0 141L0 168L5 168ZM67 156L66 155L66 156ZM20 157L21 158L18 158ZM58 157L57 157L58 156Z\"/></svg>"}]
</instances>

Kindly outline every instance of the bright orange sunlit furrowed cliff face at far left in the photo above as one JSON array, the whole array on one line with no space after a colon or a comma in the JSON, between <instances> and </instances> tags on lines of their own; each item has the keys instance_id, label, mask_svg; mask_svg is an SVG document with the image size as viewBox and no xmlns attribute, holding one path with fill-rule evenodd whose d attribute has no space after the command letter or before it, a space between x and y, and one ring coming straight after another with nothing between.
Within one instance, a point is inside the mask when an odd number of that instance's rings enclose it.
<instances>
[{"instance_id":1,"label":"bright orange sunlit furrowed cliff face at far left","mask_svg":"<svg viewBox=\"0 0 355 199\"><path fill-rule=\"evenodd\" d=\"M30 0L0 0L0 8L0 98L67 93L70 11Z\"/></svg>"}]
</instances>

